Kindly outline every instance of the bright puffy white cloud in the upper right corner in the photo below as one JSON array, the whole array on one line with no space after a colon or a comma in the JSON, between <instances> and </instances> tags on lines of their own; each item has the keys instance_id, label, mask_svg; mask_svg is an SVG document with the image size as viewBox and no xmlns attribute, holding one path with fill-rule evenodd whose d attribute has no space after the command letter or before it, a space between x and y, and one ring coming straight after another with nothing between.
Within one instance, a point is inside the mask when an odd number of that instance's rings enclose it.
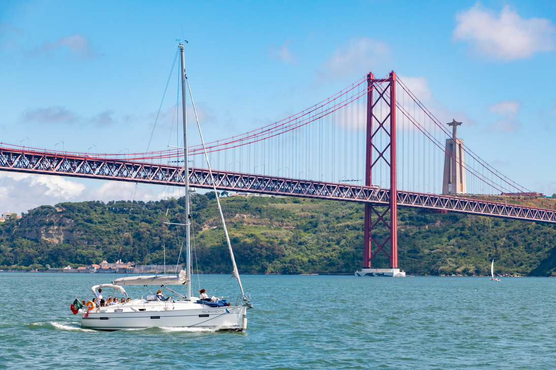
<instances>
[{"instance_id":1,"label":"bright puffy white cloud in the upper right corner","mask_svg":"<svg viewBox=\"0 0 556 370\"><path fill-rule=\"evenodd\" d=\"M510 6L499 14L481 3L456 15L455 40L466 40L480 54L511 60L554 50L556 28L549 19L520 17Z\"/></svg>"}]
</instances>

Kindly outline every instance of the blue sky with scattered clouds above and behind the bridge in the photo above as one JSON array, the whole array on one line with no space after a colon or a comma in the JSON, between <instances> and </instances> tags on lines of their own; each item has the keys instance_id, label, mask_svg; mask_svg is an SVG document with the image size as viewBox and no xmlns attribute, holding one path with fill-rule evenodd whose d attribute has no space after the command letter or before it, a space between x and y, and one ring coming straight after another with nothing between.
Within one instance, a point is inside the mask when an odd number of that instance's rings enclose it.
<instances>
[{"instance_id":1,"label":"blue sky with scattered clouds above and behind the bridge","mask_svg":"<svg viewBox=\"0 0 556 370\"><path fill-rule=\"evenodd\" d=\"M147 150L176 52L204 134L260 127L390 70L466 145L531 190L556 192L556 4L550 1L75 2L0 0L0 141ZM170 84L162 113L171 111ZM169 98L168 98L169 97ZM150 150L165 149L171 121ZM63 144L62 144L63 142ZM170 143L170 145L174 145ZM0 209L157 200L161 187L0 174Z\"/></svg>"}]
</instances>

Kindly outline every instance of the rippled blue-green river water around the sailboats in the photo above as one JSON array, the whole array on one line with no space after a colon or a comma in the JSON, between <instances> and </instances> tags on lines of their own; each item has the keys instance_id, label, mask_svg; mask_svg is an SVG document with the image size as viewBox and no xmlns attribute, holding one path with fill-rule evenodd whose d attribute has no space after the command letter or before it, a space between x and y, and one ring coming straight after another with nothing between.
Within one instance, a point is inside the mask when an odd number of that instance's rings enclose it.
<instances>
[{"instance_id":1,"label":"rippled blue-green river water around the sailboats","mask_svg":"<svg viewBox=\"0 0 556 370\"><path fill-rule=\"evenodd\" d=\"M556 366L555 278L246 275L245 333L82 330L70 303L112 278L0 273L0 368ZM230 276L199 279L209 295L237 292ZM143 289L126 287L133 298Z\"/></svg>"}]
</instances>

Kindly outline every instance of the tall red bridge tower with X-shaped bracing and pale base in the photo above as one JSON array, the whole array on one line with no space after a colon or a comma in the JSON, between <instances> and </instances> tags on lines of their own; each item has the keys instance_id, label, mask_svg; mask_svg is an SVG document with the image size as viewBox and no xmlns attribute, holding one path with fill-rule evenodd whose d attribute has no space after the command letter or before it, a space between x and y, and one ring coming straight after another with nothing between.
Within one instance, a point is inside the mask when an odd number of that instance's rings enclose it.
<instances>
[{"instance_id":1,"label":"tall red bridge tower with X-shaped bracing and pale base","mask_svg":"<svg viewBox=\"0 0 556 370\"><path fill-rule=\"evenodd\" d=\"M392 71L388 78L375 79L367 75L367 117L366 117L366 160L365 186L371 186L373 167L379 163L390 170L390 203L377 207L365 203L365 227L363 245L363 268L355 276L405 276L398 268L398 192L396 190L396 74ZM387 106L385 116L381 116L377 104ZM376 107L376 109L375 109ZM378 138L388 138L381 144ZM373 141L373 139L375 139ZM373 159L373 156L376 158ZM373 234L377 225L383 224L390 231L383 240ZM376 248L373 252L373 246ZM390 249L388 250L388 246ZM371 268L371 260L378 252L383 252L390 260L390 268Z\"/></svg>"}]
</instances>

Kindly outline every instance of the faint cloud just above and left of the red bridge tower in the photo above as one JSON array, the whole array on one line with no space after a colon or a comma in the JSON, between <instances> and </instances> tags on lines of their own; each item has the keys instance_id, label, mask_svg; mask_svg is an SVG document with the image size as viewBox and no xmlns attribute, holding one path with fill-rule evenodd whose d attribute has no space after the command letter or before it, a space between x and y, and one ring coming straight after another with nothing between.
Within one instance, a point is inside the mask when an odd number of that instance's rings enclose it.
<instances>
[{"instance_id":1,"label":"faint cloud just above and left of the red bridge tower","mask_svg":"<svg viewBox=\"0 0 556 370\"><path fill-rule=\"evenodd\" d=\"M390 58L388 44L367 37L352 38L341 45L322 65L322 79L335 79L346 75L365 75Z\"/></svg>"}]
</instances>

